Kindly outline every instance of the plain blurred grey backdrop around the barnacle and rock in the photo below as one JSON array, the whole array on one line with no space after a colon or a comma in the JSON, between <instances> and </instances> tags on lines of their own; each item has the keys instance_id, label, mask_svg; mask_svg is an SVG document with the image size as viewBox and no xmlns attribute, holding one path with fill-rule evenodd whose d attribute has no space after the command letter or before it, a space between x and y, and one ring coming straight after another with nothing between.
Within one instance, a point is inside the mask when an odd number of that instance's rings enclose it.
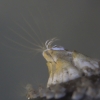
<instances>
[{"instance_id":1,"label":"plain blurred grey backdrop around the barnacle and rock","mask_svg":"<svg viewBox=\"0 0 100 100\"><path fill-rule=\"evenodd\" d=\"M48 79L42 53L18 45L36 49L10 29L33 43L58 37L54 44L100 59L100 0L0 0L0 100L25 100L27 83L36 89Z\"/></svg>"}]
</instances>

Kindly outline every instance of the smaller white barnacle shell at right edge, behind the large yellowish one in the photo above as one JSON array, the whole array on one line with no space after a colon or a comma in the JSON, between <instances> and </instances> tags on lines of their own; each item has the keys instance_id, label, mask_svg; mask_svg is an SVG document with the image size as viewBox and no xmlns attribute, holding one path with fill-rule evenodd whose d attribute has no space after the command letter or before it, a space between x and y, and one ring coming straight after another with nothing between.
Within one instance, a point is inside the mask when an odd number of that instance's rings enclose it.
<instances>
[{"instance_id":1,"label":"smaller white barnacle shell at right edge, behind the large yellowish one","mask_svg":"<svg viewBox=\"0 0 100 100\"><path fill-rule=\"evenodd\" d=\"M100 60L87 57L79 52L73 52L73 63L86 76L100 74Z\"/></svg>"}]
</instances>

